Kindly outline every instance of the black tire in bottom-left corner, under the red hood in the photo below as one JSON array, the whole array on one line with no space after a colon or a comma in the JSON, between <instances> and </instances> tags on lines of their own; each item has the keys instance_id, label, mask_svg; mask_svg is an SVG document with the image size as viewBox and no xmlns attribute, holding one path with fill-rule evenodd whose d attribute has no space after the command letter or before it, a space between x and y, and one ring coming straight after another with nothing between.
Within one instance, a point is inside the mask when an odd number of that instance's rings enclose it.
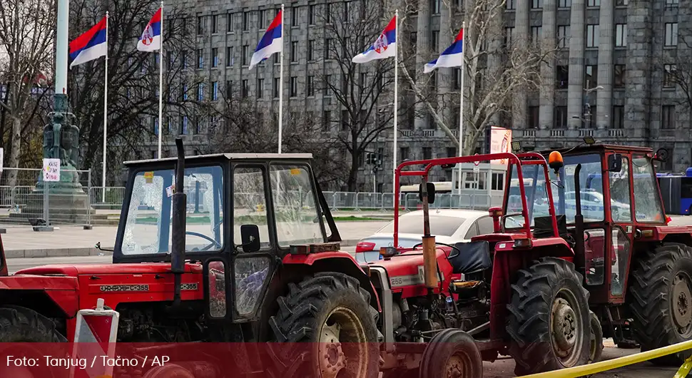
<instances>
[{"instance_id":1,"label":"black tire in bottom-left corner, under the red hood","mask_svg":"<svg viewBox=\"0 0 692 378\"><path fill-rule=\"evenodd\" d=\"M0 343L30 343L30 342L66 342L67 339L56 331L55 323L34 310L25 307L0 307ZM7 355L15 357L41 357L46 350L36 350L26 344L5 344L0 348L0 358L3 361ZM10 346L12 345L12 346ZM7 352L6 352L7 351ZM56 357L58 357L56 355ZM24 367L15 364L0 364L0 377L16 378L49 378L53 377L48 367Z\"/></svg>"}]
</instances>

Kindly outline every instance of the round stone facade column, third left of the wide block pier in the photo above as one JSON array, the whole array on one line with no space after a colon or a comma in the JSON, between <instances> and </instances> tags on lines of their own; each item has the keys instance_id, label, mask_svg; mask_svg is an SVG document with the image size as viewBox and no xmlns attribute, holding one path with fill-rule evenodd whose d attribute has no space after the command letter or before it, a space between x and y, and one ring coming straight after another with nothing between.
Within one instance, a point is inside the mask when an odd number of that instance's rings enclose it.
<instances>
[{"instance_id":1,"label":"round stone facade column, third left of the wide block pier","mask_svg":"<svg viewBox=\"0 0 692 378\"><path fill-rule=\"evenodd\" d=\"M544 51L554 50L557 46L556 41L556 12L555 1L544 1L543 3L543 49ZM539 98L540 113L539 127L541 129L553 128L555 123L555 79L556 79L555 57L549 58L546 63L541 64L541 91Z\"/></svg>"}]
</instances>

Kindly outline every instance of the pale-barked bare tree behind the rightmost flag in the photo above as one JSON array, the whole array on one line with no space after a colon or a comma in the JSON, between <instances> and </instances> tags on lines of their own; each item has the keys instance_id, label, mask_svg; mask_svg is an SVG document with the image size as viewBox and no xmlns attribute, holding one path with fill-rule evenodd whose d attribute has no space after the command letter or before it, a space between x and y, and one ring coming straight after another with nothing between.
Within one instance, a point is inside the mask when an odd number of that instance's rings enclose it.
<instances>
[{"instance_id":1,"label":"pale-barked bare tree behind the rightmost flag","mask_svg":"<svg viewBox=\"0 0 692 378\"><path fill-rule=\"evenodd\" d=\"M449 12L456 11L452 1L442 0ZM479 138L499 113L511 111L512 98L517 91L535 91L540 85L541 64L554 53L555 46L540 46L536 41L506 39L502 21L506 0L474 0L465 3L464 29L464 155L473 153ZM450 35L456 36L462 22L452 24ZM451 44L452 41L449 41ZM437 46L434 46L437 47ZM435 53L437 55L439 52ZM459 96L437 96L432 101L424 94L422 79L416 82L405 66L404 77L432 114L434 123L459 146L452 133L452 123L439 114L444 107L459 108ZM435 75L431 73L430 75ZM421 73L417 76L423 76ZM423 81L424 82L424 81Z\"/></svg>"}]
</instances>

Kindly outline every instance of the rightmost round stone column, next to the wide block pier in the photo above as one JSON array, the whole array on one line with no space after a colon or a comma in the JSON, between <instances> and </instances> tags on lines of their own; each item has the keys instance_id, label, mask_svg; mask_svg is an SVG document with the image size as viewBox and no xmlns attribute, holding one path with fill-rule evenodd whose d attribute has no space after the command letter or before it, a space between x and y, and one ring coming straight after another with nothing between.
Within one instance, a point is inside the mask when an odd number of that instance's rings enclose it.
<instances>
[{"instance_id":1,"label":"rightmost round stone column, next to the wide block pier","mask_svg":"<svg viewBox=\"0 0 692 378\"><path fill-rule=\"evenodd\" d=\"M614 48L614 9L613 0L601 0L601 19L599 28L599 81L603 89L596 91L596 127L599 130L610 128L613 113L613 48ZM625 36L626 38L626 36ZM590 96L594 96L591 93ZM593 115L591 115L593 117Z\"/></svg>"}]
</instances>

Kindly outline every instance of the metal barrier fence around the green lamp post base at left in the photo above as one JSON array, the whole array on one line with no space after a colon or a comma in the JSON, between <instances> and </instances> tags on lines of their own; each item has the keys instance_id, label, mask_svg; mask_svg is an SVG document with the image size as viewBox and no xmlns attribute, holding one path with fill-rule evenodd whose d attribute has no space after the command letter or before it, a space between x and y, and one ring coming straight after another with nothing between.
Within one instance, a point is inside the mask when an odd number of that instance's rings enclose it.
<instances>
[{"instance_id":1,"label":"metal barrier fence around the green lamp post base at left","mask_svg":"<svg viewBox=\"0 0 692 378\"><path fill-rule=\"evenodd\" d=\"M45 183L39 168L4 168L0 174L0 224L91 225L94 210L89 170L61 170L59 183ZM46 219L46 217L48 219Z\"/></svg>"}]
</instances>

